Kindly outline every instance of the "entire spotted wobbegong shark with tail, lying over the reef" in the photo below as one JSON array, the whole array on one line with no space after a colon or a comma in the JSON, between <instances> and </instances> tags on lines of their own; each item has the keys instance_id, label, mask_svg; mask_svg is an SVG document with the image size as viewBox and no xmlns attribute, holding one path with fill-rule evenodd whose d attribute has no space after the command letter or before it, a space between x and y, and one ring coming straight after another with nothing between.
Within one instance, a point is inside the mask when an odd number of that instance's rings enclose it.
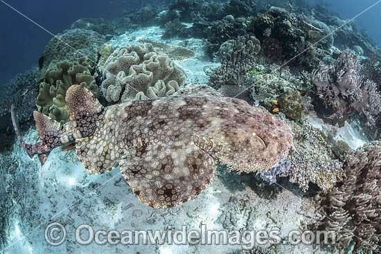
<instances>
[{"instance_id":1,"label":"entire spotted wobbegong shark with tail, lying over the reef","mask_svg":"<svg viewBox=\"0 0 381 254\"><path fill-rule=\"evenodd\" d=\"M100 105L85 87L67 91L71 122L60 125L38 111L42 140L21 145L44 163L51 149L76 143L76 152L92 174L114 167L139 199L154 208L177 206L200 194L211 182L214 162L238 172L264 172L287 156L290 127L272 114L207 86L188 86L176 96Z\"/></svg>"}]
</instances>

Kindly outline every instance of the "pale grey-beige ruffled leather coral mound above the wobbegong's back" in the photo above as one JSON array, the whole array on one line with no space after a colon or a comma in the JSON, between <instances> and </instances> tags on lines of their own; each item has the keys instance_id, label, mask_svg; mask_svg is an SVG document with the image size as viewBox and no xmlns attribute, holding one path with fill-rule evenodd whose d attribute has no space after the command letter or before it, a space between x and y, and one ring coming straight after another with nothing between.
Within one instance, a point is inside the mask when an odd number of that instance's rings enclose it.
<instances>
[{"instance_id":1,"label":"pale grey-beige ruffled leather coral mound above the wobbegong's back","mask_svg":"<svg viewBox=\"0 0 381 254\"><path fill-rule=\"evenodd\" d=\"M118 48L109 55L103 69L100 91L108 102L154 99L170 96L186 76L167 55L152 44Z\"/></svg>"}]
</instances>

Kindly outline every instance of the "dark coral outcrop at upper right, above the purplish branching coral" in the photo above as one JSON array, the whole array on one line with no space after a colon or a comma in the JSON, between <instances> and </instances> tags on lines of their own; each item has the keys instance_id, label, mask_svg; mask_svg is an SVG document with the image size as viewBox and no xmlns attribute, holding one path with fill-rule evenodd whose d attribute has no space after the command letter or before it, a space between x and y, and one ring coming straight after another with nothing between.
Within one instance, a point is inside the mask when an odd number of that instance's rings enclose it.
<instances>
[{"instance_id":1,"label":"dark coral outcrop at upper right, above the purplish branching coral","mask_svg":"<svg viewBox=\"0 0 381 254\"><path fill-rule=\"evenodd\" d=\"M333 42L329 36L319 41L330 33L323 23L277 7L257 15L254 31L266 57L275 62L292 60L290 66L303 66L303 69L312 69L317 65L324 50ZM317 44L313 45L315 42Z\"/></svg>"}]
</instances>

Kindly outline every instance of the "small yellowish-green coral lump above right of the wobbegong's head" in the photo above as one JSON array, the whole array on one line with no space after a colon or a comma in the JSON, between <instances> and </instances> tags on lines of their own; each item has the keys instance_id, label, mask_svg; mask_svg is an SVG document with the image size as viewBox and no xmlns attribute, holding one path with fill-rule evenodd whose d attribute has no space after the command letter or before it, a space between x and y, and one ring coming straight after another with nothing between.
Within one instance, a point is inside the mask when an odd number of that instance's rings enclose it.
<instances>
[{"instance_id":1,"label":"small yellowish-green coral lump above right of the wobbegong's head","mask_svg":"<svg viewBox=\"0 0 381 254\"><path fill-rule=\"evenodd\" d=\"M301 93L287 89L285 93L278 98L279 109L289 118L294 120L301 119Z\"/></svg>"}]
</instances>

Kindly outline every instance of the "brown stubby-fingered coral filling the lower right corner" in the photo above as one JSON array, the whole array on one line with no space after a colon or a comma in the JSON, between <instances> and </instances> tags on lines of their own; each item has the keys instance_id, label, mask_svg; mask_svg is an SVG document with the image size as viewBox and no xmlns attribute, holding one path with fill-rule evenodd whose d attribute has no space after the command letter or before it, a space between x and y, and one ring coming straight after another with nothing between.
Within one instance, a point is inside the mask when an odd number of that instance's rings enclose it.
<instances>
[{"instance_id":1,"label":"brown stubby-fingered coral filling the lower right corner","mask_svg":"<svg viewBox=\"0 0 381 254\"><path fill-rule=\"evenodd\" d=\"M381 143L374 142L346 156L344 183L321 199L326 217L317 229L337 233L335 247L372 253L381 244Z\"/></svg>"}]
</instances>

